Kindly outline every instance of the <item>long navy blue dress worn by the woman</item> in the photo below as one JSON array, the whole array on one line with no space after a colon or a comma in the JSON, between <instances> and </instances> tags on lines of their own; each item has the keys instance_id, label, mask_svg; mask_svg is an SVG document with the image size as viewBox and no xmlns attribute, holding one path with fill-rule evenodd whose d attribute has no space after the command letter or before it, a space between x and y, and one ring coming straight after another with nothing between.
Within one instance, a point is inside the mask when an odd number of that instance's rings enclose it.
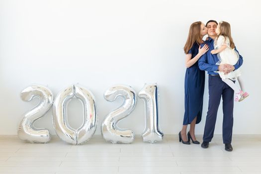
<instances>
[{"instance_id":1,"label":"long navy blue dress worn by the woman","mask_svg":"<svg viewBox=\"0 0 261 174\"><path fill-rule=\"evenodd\" d=\"M198 54L198 45L194 43L188 54L194 58ZM186 69L185 75L185 113L183 125L190 124L197 116L196 124L201 121L203 94L205 87L205 71L198 68L198 61Z\"/></svg>"}]
</instances>

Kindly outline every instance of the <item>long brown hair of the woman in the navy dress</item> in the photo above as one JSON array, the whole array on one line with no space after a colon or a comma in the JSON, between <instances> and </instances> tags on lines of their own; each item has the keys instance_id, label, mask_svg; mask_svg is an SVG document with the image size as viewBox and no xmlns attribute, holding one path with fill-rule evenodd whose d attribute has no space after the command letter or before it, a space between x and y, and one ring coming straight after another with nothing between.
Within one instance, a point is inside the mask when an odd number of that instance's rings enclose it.
<instances>
[{"instance_id":1,"label":"long brown hair of the woman in the navy dress","mask_svg":"<svg viewBox=\"0 0 261 174\"><path fill-rule=\"evenodd\" d=\"M187 41L184 46L184 52L185 54L188 54L188 51L190 48L192 48L193 44L196 42L198 45L203 43L200 30L201 30L201 23L200 21L193 22L189 27L189 32L187 36Z\"/></svg>"}]
</instances>

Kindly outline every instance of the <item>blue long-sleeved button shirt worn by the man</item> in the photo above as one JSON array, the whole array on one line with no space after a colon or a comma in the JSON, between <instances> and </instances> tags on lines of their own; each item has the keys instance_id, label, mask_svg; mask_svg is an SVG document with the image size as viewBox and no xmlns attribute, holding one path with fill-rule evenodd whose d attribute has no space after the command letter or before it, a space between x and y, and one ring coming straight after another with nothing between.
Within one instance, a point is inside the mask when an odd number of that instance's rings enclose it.
<instances>
[{"instance_id":1,"label":"blue long-sleeved button shirt worn by the man","mask_svg":"<svg viewBox=\"0 0 261 174\"><path fill-rule=\"evenodd\" d=\"M201 48L205 44L208 45L209 50L199 58L198 67L200 70L207 71L208 74L218 75L218 73L215 73L215 71L218 71L218 65L216 65L216 63L219 61L219 59L217 57L217 54L210 53L210 51L214 50L214 40L211 37L208 37L208 40L206 40L203 44L200 45ZM235 51L238 52L236 47L235 47ZM243 57L239 54L239 60L234 65L235 70L237 70L242 64L243 64Z\"/></svg>"}]
</instances>

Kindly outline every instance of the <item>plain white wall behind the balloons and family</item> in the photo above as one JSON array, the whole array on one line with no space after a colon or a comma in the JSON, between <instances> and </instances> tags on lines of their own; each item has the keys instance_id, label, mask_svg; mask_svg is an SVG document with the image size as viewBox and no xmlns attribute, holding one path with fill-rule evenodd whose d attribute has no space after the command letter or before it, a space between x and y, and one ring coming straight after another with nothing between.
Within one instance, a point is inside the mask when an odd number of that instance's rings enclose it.
<instances>
[{"instance_id":1,"label":"plain white wall behind the balloons and family","mask_svg":"<svg viewBox=\"0 0 261 174\"><path fill-rule=\"evenodd\" d=\"M37 104L24 102L20 91L30 84L48 86L56 95L80 83L96 97L98 127L105 115L118 107L103 99L114 84L132 86L157 82L160 121L165 134L177 134L184 112L183 46L192 22L209 19L231 23L232 36L244 58L242 67L246 100L235 103L234 134L261 134L260 48L261 11L256 0L0 0L0 134L16 134L21 115ZM220 2L220 4L217 4ZM204 96L203 134L208 105ZM69 104L74 127L83 120L82 105ZM222 104L215 134L222 133ZM37 127L52 134L52 113ZM141 134L144 103L119 124Z\"/></svg>"}]
</instances>

